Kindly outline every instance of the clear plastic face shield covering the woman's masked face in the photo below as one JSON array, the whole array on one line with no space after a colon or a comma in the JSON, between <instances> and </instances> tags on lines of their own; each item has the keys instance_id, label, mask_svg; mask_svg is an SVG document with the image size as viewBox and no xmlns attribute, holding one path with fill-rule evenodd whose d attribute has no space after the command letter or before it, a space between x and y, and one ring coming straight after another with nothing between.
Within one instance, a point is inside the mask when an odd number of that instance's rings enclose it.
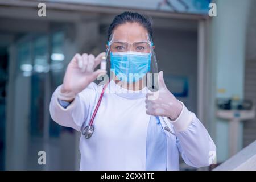
<instances>
[{"instance_id":1,"label":"clear plastic face shield covering the woman's masked face","mask_svg":"<svg viewBox=\"0 0 256 182\"><path fill-rule=\"evenodd\" d=\"M128 84L143 80L148 89L154 90L158 68L153 46L148 33L110 35L106 49L110 78Z\"/></svg>"}]
</instances>

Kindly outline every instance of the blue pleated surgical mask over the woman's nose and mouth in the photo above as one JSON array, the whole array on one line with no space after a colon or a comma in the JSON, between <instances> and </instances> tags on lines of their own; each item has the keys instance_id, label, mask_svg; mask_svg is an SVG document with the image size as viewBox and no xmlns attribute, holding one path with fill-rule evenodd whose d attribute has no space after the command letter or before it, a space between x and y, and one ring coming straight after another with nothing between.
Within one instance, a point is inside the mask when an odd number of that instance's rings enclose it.
<instances>
[{"instance_id":1,"label":"blue pleated surgical mask over the woman's nose and mouth","mask_svg":"<svg viewBox=\"0 0 256 182\"><path fill-rule=\"evenodd\" d=\"M137 82L150 71L151 53L111 52L110 65L119 80Z\"/></svg>"}]
</instances>

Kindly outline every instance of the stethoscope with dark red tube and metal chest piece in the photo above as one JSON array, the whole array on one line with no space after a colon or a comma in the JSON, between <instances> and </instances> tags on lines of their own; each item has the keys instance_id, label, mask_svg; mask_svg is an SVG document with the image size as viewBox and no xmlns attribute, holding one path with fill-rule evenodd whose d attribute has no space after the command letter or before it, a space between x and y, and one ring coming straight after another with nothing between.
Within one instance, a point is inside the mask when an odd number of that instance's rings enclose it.
<instances>
[{"instance_id":1,"label":"stethoscope with dark red tube and metal chest piece","mask_svg":"<svg viewBox=\"0 0 256 182\"><path fill-rule=\"evenodd\" d=\"M108 83L109 83L109 82L108 82ZM96 105L96 107L95 107L95 110L93 111L92 118L90 118L89 125L87 125L87 126L82 130L82 134L85 135L85 138L86 138L86 139L92 137L92 134L93 134L93 131L94 131L93 121L94 121L94 118L95 118L96 113L97 113L97 111L98 111L98 107L100 107L101 99L102 99L102 97L103 97L103 95L104 95L104 92L105 92L106 87L108 86L108 83L105 84L104 87L102 88L100 98L98 99L98 102L97 102L97 105ZM85 123L85 122L84 122L84 123Z\"/></svg>"}]
</instances>

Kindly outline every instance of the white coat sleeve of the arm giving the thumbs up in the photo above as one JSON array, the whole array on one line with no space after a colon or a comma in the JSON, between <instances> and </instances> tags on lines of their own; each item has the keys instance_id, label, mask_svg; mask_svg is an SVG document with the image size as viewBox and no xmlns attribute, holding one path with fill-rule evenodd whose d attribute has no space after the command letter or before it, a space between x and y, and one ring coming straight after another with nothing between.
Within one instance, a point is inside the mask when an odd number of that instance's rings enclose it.
<instances>
[{"instance_id":1,"label":"white coat sleeve of the arm giving the thumbs up","mask_svg":"<svg viewBox=\"0 0 256 182\"><path fill-rule=\"evenodd\" d=\"M183 105L179 118L170 122L174 126L177 147L186 164L199 168L213 163L216 145L194 113Z\"/></svg>"}]
</instances>

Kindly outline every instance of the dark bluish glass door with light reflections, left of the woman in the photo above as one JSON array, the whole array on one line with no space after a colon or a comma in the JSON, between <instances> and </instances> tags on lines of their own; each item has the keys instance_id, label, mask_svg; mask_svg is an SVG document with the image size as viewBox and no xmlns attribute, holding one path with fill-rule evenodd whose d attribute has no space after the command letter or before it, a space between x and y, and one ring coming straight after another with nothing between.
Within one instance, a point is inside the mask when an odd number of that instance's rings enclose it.
<instances>
[{"instance_id":1,"label":"dark bluish glass door with light reflections, left of the woman","mask_svg":"<svg viewBox=\"0 0 256 182\"><path fill-rule=\"evenodd\" d=\"M10 54L13 77L9 82L7 126L10 134L6 151L6 169L60 169L60 131L63 127L49 115L53 90L64 74L64 32L26 35L19 39ZM15 55L15 56L14 56ZM9 107L11 108L11 107ZM38 163L38 152L46 152L46 165ZM54 160L51 160L54 159Z\"/></svg>"}]
</instances>

